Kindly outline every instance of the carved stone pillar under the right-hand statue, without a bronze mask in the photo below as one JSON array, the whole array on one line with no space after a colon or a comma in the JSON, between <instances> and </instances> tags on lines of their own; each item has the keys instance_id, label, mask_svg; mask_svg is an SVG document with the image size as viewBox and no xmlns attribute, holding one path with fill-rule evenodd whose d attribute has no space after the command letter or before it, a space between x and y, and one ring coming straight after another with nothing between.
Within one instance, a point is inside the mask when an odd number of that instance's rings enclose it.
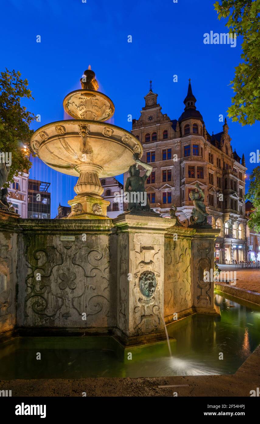
<instances>
[{"instance_id":1,"label":"carved stone pillar under the right-hand statue, without a bronze mask","mask_svg":"<svg viewBox=\"0 0 260 424\"><path fill-rule=\"evenodd\" d=\"M191 274L194 311L219 315L214 308L214 244L219 231L197 228L192 240ZM205 271L208 271L205 274ZM205 278L205 275L207 277Z\"/></svg>"}]
</instances>

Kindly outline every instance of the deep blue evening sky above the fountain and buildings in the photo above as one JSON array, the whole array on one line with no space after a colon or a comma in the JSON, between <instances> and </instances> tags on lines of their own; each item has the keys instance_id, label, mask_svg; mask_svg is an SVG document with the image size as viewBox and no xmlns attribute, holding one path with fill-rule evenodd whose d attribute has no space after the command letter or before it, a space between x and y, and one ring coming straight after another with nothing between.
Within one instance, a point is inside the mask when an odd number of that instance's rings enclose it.
<instances>
[{"instance_id":1,"label":"deep blue evening sky above the fountain and buildings","mask_svg":"<svg viewBox=\"0 0 260 424\"><path fill-rule=\"evenodd\" d=\"M63 98L81 88L79 78L91 64L99 91L115 104L110 121L131 130L128 114L139 118L152 80L162 113L178 119L192 80L197 109L210 134L222 131L233 90L229 86L241 55L241 39L230 45L205 45L203 34L228 32L217 19L214 0L9 0L1 4L0 70L19 70L35 100L23 104L41 115L37 129L63 120ZM36 43L36 36L41 43ZM128 35L132 43L127 42ZM178 75L178 83L173 75ZM67 118L65 118L67 119ZM249 153L259 148L260 123L242 127L227 120L233 150L245 154L247 175L256 165ZM75 177L57 173L33 159L30 178L51 183L51 217L75 195ZM122 182L122 177L119 177ZM247 177L248 180L248 177Z\"/></svg>"}]
</instances>

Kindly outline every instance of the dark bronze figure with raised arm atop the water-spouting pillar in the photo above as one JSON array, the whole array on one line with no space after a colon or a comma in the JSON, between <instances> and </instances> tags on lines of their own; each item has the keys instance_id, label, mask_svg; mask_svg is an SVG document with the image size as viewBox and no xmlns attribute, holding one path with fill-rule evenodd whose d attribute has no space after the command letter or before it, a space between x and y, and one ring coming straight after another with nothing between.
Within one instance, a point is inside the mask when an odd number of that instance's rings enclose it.
<instances>
[{"instance_id":1,"label":"dark bronze figure with raised arm atop the water-spouting pillar","mask_svg":"<svg viewBox=\"0 0 260 424\"><path fill-rule=\"evenodd\" d=\"M126 180L125 192L129 195L128 209L127 210L143 210L150 212L150 203L145 191L145 181L151 175L153 167L148 163L141 162L138 159L138 153L133 155L135 164L129 168L130 176ZM138 165L142 165L146 169L145 175L140 176ZM131 189L129 189L131 187Z\"/></svg>"}]
</instances>

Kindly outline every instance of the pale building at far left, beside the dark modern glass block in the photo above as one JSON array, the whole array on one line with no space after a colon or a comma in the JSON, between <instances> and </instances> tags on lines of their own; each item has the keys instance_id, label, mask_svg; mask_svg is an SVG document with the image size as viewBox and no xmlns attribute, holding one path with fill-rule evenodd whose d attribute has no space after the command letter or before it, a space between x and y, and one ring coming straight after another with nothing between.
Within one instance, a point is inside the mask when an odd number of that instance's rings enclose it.
<instances>
[{"instance_id":1,"label":"pale building at far left, beside the dark modern glass block","mask_svg":"<svg viewBox=\"0 0 260 424\"><path fill-rule=\"evenodd\" d=\"M25 171L14 177L14 182L8 187L7 201L14 206L15 212L21 218L27 218L28 214L28 179L29 174Z\"/></svg>"}]
</instances>

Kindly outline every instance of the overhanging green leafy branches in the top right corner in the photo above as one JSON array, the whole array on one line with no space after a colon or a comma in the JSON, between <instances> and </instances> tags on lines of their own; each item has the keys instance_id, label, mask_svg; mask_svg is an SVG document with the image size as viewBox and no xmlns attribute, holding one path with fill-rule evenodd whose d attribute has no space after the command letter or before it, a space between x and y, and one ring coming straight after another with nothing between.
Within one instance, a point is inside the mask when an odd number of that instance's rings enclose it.
<instances>
[{"instance_id":1,"label":"overhanging green leafy branches in the top right corner","mask_svg":"<svg viewBox=\"0 0 260 424\"><path fill-rule=\"evenodd\" d=\"M230 33L243 36L242 62L235 67L234 97L228 116L242 125L260 119L260 0L222 0L214 4L219 20L228 18Z\"/></svg>"}]
</instances>

